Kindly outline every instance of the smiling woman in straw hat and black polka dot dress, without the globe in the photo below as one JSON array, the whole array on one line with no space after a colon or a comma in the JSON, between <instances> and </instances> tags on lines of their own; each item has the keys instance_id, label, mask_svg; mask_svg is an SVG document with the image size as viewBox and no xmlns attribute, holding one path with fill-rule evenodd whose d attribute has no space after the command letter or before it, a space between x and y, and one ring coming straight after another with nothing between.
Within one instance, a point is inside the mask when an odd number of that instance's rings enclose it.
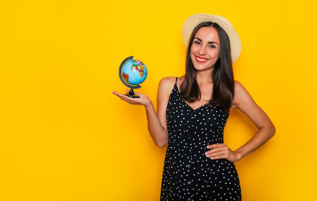
<instances>
[{"instance_id":1,"label":"smiling woman in straw hat and black polka dot dress, without the globe","mask_svg":"<svg viewBox=\"0 0 317 201\"><path fill-rule=\"evenodd\" d=\"M144 105L148 131L159 147L168 144L161 200L241 200L234 162L262 146L275 133L265 112L234 81L232 62L240 54L240 38L220 16L196 14L183 25L187 46L185 75L165 77L157 92L157 111L144 94L129 98ZM128 91L127 91L128 92ZM240 109L258 131L237 150L223 143L230 110Z\"/></svg>"}]
</instances>

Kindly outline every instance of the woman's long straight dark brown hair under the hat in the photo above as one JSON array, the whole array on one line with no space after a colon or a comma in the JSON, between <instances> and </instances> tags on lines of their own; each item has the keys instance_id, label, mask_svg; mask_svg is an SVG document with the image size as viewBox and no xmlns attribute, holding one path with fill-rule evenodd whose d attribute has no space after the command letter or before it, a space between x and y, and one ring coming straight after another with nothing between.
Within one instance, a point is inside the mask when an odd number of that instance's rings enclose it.
<instances>
[{"instance_id":1,"label":"woman's long straight dark brown hair under the hat","mask_svg":"<svg viewBox=\"0 0 317 201\"><path fill-rule=\"evenodd\" d=\"M217 23L203 22L194 28L188 43L186 68L183 82L180 85L180 94L182 98L189 103L200 100L201 98L201 91L196 81L197 70L194 68L190 58L190 48L196 32L202 27L214 27L219 35L221 57L216 62L211 75L213 80L213 94L212 97L210 97L210 104L220 107L222 112L227 112L232 106L234 95L230 42L227 33Z\"/></svg>"}]
</instances>

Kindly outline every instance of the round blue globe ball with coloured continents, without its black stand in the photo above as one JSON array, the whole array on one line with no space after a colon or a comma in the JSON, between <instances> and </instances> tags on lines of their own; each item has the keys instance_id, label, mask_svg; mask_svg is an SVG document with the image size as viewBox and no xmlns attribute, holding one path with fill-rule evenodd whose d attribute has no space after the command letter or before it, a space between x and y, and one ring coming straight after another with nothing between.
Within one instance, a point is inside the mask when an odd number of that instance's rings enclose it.
<instances>
[{"instance_id":1,"label":"round blue globe ball with coloured continents, without its black stand","mask_svg":"<svg viewBox=\"0 0 317 201\"><path fill-rule=\"evenodd\" d=\"M140 85L147 76L147 67L137 59L131 59L122 67L122 78L130 85Z\"/></svg>"}]
</instances>

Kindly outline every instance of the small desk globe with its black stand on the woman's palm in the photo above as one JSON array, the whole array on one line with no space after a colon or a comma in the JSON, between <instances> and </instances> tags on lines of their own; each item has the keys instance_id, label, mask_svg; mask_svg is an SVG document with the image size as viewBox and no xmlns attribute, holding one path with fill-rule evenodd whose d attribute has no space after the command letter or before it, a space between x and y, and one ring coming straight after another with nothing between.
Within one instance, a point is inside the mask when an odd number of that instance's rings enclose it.
<instances>
[{"instance_id":1,"label":"small desk globe with its black stand on the woman's palm","mask_svg":"<svg viewBox=\"0 0 317 201\"><path fill-rule=\"evenodd\" d=\"M147 77L146 65L137 59L133 59L133 56L123 60L119 67L119 77L121 82L131 88L131 91L127 96L137 98L133 92L133 89L141 88L140 84L143 83Z\"/></svg>"}]
</instances>

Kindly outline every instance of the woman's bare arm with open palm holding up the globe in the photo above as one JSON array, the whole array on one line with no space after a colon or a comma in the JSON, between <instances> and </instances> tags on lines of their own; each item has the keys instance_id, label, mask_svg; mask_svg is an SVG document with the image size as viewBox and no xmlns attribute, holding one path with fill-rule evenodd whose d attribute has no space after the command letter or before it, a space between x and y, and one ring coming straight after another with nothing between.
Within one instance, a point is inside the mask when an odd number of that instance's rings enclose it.
<instances>
[{"instance_id":1,"label":"woman's bare arm with open palm holding up the globe","mask_svg":"<svg viewBox=\"0 0 317 201\"><path fill-rule=\"evenodd\" d=\"M160 81L159 89L157 90L157 112L155 112L152 101L144 94L135 93L140 98L130 98L118 92L112 92L130 104L143 105L145 107L148 131L155 145L159 147L164 147L168 143L166 109L174 83L175 77L165 77Z\"/></svg>"}]
</instances>

